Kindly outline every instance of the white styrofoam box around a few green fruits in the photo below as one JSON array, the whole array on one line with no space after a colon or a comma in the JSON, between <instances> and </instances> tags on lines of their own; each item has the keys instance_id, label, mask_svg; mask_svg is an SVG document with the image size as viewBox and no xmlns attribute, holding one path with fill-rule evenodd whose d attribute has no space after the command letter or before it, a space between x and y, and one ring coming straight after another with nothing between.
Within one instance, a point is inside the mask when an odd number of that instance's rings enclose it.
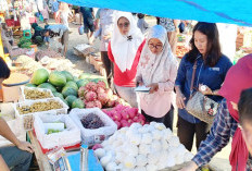
<instances>
[{"instance_id":1,"label":"white styrofoam box around a few green fruits","mask_svg":"<svg viewBox=\"0 0 252 171\"><path fill-rule=\"evenodd\" d=\"M43 123L63 122L66 129L60 133L47 134ZM43 149L68 147L80 143L80 130L66 114L37 114L34 117L34 130Z\"/></svg>"}]
</instances>

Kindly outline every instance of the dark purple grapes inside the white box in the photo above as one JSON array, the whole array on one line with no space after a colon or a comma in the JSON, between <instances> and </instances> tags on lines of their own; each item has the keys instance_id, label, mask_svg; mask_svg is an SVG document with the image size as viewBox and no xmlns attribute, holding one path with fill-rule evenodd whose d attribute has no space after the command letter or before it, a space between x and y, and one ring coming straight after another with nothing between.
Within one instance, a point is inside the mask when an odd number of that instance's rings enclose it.
<instances>
[{"instance_id":1,"label":"dark purple grapes inside the white box","mask_svg":"<svg viewBox=\"0 0 252 171\"><path fill-rule=\"evenodd\" d=\"M93 113L89 113L88 115L85 115L81 120L80 120L83 126L85 129L99 129L99 127L103 127L104 123L102 122L102 120Z\"/></svg>"}]
</instances>

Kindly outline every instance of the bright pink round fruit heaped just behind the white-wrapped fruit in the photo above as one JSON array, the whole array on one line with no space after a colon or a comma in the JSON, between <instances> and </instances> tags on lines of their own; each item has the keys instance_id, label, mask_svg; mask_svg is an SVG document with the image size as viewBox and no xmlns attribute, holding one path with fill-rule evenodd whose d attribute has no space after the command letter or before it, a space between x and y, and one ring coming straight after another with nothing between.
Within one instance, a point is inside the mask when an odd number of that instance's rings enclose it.
<instances>
[{"instance_id":1,"label":"bright pink round fruit heaped just behind the white-wrapped fruit","mask_svg":"<svg viewBox=\"0 0 252 171\"><path fill-rule=\"evenodd\" d=\"M118 105L113 110L103 110L103 112L117 124L118 130L121 127L129 127L135 122L141 125L146 124L146 118L141 113L138 113L137 108Z\"/></svg>"}]
</instances>

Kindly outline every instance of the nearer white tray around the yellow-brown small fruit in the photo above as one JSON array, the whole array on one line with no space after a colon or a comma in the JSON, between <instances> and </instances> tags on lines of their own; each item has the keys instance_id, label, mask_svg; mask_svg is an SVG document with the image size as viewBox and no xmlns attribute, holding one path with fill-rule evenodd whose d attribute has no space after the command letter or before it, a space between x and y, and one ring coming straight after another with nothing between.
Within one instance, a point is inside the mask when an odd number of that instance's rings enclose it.
<instances>
[{"instance_id":1,"label":"nearer white tray around the yellow-brown small fruit","mask_svg":"<svg viewBox=\"0 0 252 171\"><path fill-rule=\"evenodd\" d=\"M38 111L34 113L26 113L26 114L21 114L20 111L17 110L17 107L23 107L23 106L32 106L35 102L46 102L49 100L55 100L60 102L63 108L62 109L53 109L53 110L48 110L48 111ZM35 114L47 114L47 113L53 113L53 114L67 114L68 106L65 105L59 97L54 98L49 98L49 99L40 99L40 100L34 100L34 101L23 101L23 102L17 102L13 105L14 111L15 111L15 117L16 118L22 118L23 123L24 123L24 129L26 131L29 131L33 129L33 121L34 121L34 115Z\"/></svg>"}]
</instances>

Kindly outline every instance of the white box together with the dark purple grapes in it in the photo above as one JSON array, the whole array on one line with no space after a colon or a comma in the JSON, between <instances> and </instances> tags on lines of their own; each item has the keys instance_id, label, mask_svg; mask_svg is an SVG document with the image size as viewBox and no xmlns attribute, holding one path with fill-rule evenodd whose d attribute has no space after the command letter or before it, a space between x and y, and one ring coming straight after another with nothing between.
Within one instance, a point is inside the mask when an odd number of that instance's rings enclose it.
<instances>
[{"instance_id":1,"label":"white box together with the dark purple grapes in it","mask_svg":"<svg viewBox=\"0 0 252 171\"><path fill-rule=\"evenodd\" d=\"M72 109L70 117L80 129L81 141L87 145L103 142L116 130L116 124L99 108Z\"/></svg>"}]
</instances>

